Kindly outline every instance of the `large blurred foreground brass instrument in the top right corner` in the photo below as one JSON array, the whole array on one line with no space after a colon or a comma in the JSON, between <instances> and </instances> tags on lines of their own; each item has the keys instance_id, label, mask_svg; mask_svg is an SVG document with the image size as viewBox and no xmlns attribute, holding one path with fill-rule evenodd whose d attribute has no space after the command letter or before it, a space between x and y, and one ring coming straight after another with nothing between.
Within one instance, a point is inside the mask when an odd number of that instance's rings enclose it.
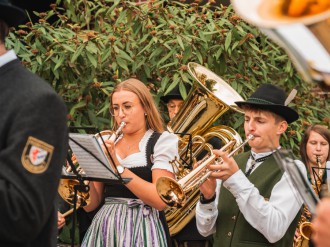
<instances>
[{"instance_id":1,"label":"large blurred foreground brass instrument in the top right corner","mask_svg":"<svg viewBox=\"0 0 330 247\"><path fill-rule=\"evenodd\" d=\"M286 50L304 80L330 90L329 0L231 2L244 20Z\"/></svg>"}]
</instances>

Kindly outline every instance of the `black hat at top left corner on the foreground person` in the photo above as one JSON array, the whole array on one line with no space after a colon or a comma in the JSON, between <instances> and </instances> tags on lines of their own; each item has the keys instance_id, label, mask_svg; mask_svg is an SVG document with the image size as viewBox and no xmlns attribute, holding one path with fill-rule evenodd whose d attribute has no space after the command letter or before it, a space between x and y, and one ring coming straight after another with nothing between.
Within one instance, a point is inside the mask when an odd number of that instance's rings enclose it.
<instances>
[{"instance_id":1,"label":"black hat at top left corner on the foreground person","mask_svg":"<svg viewBox=\"0 0 330 247\"><path fill-rule=\"evenodd\" d=\"M26 19L24 10L12 5L8 0L0 0L0 19L9 27L16 27Z\"/></svg>"}]
</instances>

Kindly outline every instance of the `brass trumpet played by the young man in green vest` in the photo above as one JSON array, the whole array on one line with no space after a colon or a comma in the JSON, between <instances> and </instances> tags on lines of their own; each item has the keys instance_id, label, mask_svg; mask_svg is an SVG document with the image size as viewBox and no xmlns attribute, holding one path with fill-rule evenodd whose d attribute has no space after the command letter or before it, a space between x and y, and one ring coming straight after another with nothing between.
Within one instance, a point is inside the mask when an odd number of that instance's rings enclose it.
<instances>
[{"instance_id":1,"label":"brass trumpet played by the young man in green vest","mask_svg":"<svg viewBox=\"0 0 330 247\"><path fill-rule=\"evenodd\" d=\"M253 138L254 136L250 134L243 143L241 143L228 154L228 157L233 156L239 149L241 149L248 143L249 140L252 140ZM220 150L225 151L232 149L235 143L236 140L231 140ZM165 202L170 207L183 207L187 200L187 193L196 187L199 187L211 175L212 171L208 170L208 166L214 163L220 163L221 161L221 158L218 158L215 154L212 154L208 158L205 158L196 169L178 181L169 177L160 177L156 183L158 195L163 200L163 202Z\"/></svg>"}]
</instances>

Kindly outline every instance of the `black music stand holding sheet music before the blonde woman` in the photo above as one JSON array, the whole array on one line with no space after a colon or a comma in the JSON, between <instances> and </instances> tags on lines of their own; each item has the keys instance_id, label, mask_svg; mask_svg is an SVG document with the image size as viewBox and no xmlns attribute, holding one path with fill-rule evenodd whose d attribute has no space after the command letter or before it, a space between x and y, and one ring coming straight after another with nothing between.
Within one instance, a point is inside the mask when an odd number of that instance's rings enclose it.
<instances>
[{"instance_id":1,"label":"black music stand holding sheet music before the blonde woman","mask_svg":"<svg viewBox=\"0 0 330 247\"><path fill-rule=\"evenodd\" d=\"M75 129L75 130L97 130L94 127L73 127L71 129ZM102 144L105 146L105 142L103 139L103 136L101 135L100 131L97 130L97 133L99 134L99 137L101 138ZM72 134L73 135L73 134ZM76 134L76 135L81 135L81 137L91 137L94 135L87 135L87 134ZM71 157L67 156L67 160L68 163L73 171L73 174L69 174L69 173L65 173L62 174L62 178L64 179L75 179L79 181L78 185L74 185L74 198L73 198L73 213L72 213L72 229L71 229L71 246L74 247L74 237L75 237L75 218L76 218L76 210L77 210L77 194L78 191L81 192L88 192L89 191L89 185L86 185L84 183L85 180L88 181L98 181L98 182L104 182L104 183L112 183L112 184L126 184L129 181L131 181L131 178L122 178L117 170L117 167L109 153L109 150L106 149L107 155L106 155L106 160L108 162L106 162L105 159L101 159L99 155L97 155L97 153L94 150L89 150L89 148L85 147L84 144L79 143L79 138L74 138L73 136L71 136L69 134L69 145L71 147L71 150L73 151L73 149L75 150L79 150L79 155L81 152L84 152L84 157L89 157L92 159L88 159L85 160L84 158L78 158L78 152L76 153L76 158L78 160L79 165L83 168L85 174L80 174L75 165L73 164ZM82 139L83 140L83 139ZM90 139L86 139L86 140L90 140ZM95 147L95 146L94 146ZM97 149L96 149L97 150ZM100 150L98 150L100 151ZM104 153L102 151L102 153ZM80 161L79 161L80 160ZM91 160L93 160L93 164L96 162L96 164L98 164L101 169L102 169L102 177L99 176L95 176L92 175L90 176L88 173L86 173L85 170L88 170L88 162L90 162ZM86 162L85 162L86 161ZM90 163L92 164L92 163ZM85 169L84 169L85 168ZM86 169L87 168L87 169ZM108 172L108 173L106 173ZM106 176L109 176L110 178L107 178Z\"/></svg>"}]
</instances>

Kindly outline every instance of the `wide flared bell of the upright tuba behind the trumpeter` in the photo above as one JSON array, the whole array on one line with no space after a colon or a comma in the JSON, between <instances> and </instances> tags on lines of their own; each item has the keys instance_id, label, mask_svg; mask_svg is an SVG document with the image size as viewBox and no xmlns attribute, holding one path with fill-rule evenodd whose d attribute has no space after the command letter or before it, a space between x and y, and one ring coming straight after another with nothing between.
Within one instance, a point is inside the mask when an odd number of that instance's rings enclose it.
<instances>
[{"instance_id":1,"label":"wide flared bell of the upright tuba behind the trumpeter","mask_svg":"<svg viewBox=\"0 0 330 247\"><path fill-rule=\"evenodd\" d=\"M179 112L169 122L170 132L195 136L205 133L229 109L242 112L235 101L244 99L218 75L193 62L188 63L188 71L196 81Z\"/></svg>"}]
</instances>

